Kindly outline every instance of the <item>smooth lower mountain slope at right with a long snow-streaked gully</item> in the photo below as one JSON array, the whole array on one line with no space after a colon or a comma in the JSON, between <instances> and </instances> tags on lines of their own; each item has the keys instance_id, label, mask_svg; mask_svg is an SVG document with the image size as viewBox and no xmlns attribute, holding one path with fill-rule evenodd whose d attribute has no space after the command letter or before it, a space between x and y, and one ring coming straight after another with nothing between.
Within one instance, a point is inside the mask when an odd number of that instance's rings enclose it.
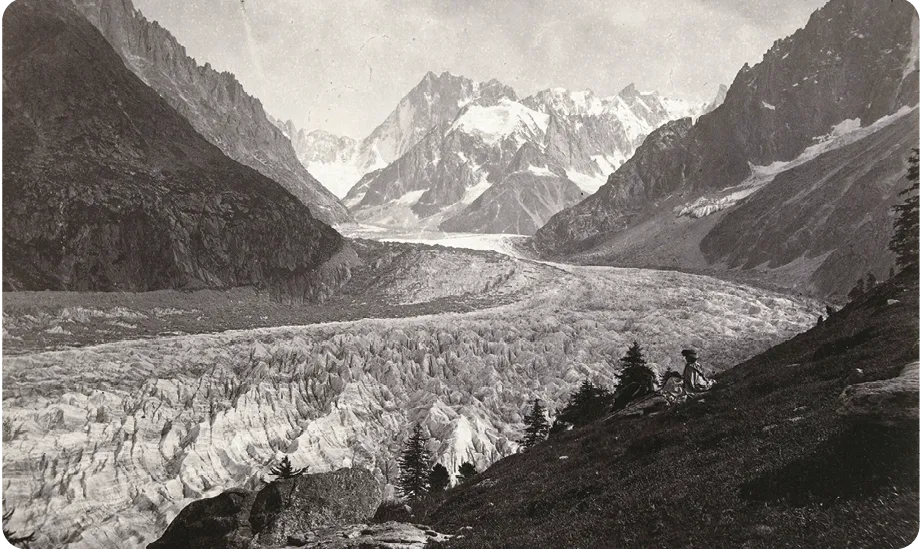
<instances>
[{"instance_id":1,"label":"smooth lower mountain slope at right with a long snow-streaked gully","mask_svg":"<svg viewBox=\"0 0 922 550\"><path fill-rule=\"evenodd\" d=\"M587 249L568 257L730 273L811 295L844 295L857 278L883 278L894 263L890 206L908 185L906 163L918 134L919 110L904 108L831 136L791 162L755 167L739 186L654 202L634 215L639 221L587 240Z\"/></svg>"}]
</instances>

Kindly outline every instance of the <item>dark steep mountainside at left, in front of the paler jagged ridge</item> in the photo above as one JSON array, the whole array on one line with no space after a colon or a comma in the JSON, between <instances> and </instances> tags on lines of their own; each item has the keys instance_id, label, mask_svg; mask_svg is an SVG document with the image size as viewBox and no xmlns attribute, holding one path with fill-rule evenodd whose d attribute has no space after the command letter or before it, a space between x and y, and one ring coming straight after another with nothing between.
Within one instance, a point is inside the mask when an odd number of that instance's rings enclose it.
<instances>
[{"instance_id":1,"label":"dark steep mountainside at left, in front of the paler jagged ridge","mask_svg":"<svg viewBox=\"0 0 922 550\"><path fill-rule=\"evenodd\" d=\"M125 68L63 0L3 17L4 289L282 286L343 247Z\"/></svg>"}]
</instances>

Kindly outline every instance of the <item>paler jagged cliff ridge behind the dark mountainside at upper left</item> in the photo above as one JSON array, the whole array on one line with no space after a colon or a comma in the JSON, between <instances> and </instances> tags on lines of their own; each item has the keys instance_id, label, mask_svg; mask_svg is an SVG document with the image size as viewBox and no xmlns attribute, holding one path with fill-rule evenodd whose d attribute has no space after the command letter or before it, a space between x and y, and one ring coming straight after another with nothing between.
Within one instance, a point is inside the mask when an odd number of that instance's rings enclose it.
<instances>
[{"instance_id":1,"label":"paler jagged cliff ridge behind the dark mountainside at upper left","mask_svg":"<svg viewBox=\"0 0 922 550\"><path fill-rule=\"evenodd\" d=\"M282 184L327 223L349 221L346 208L298 161L287 137L234 75L199 66L172 34L131 0L74 0L141 80L230 158Z\"/></svg>"}]
</instances>

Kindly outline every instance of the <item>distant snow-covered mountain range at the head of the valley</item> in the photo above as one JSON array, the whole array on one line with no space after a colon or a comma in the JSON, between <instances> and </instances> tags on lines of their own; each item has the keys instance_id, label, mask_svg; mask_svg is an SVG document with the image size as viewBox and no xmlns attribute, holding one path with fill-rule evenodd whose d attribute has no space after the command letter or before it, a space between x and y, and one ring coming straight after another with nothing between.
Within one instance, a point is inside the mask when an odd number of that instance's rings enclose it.
<instances>
[{"instance_id":1,"label":"distant snow-covered mountain range at the head of the valley","mask_svg":"<svg viewBox=\"0 0 922 550\"><path fill-rule=\"evenodd\" d=\"M633 84L608 98L554 88L520 99L495 79L430 72L364 140L276 124L358 221L531 234L597 190L654 128L713 110L725 92L700 105Z\"/></svg>"}]
</instances>

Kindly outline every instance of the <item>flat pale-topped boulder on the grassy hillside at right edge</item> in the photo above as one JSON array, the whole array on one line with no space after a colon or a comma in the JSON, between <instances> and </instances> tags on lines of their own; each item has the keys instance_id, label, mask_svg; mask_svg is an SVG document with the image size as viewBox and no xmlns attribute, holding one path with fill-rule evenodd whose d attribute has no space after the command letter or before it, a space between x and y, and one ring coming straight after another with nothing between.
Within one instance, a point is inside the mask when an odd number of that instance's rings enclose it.
<instances>
[{"instance_id":1,"label":"flat pale-topped boulder on the grassy hillside at right edge","mask_svg":"<svg viewBox=\"0 0 922 550\"><path fill-rule=\"evenodd\" d=\"M906 365L899 376L852 384L842 391L842 416L892 425L919 422L919 362Z\"/></svg>"}]
</instances>

